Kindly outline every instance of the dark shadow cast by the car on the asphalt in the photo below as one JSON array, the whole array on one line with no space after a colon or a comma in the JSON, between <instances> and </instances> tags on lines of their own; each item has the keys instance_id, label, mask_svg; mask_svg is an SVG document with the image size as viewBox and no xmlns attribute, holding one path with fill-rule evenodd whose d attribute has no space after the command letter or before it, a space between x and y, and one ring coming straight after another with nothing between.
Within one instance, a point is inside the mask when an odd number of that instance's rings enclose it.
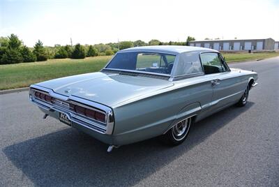
<instances>
[{"instance_id":1,"label":"dark shadow cast by the car on the asphalt","mask_svg":"<svg viewBox=\"0 0 279 187\"><path fill-rule=\"evenodd\" d=\"M131 186L186 154L253 104L229 107L199 121L177 147L153 138L108 154L107 145L66 128L10 145L3 152L35 186Z\"/></svg>"}]
</instances>

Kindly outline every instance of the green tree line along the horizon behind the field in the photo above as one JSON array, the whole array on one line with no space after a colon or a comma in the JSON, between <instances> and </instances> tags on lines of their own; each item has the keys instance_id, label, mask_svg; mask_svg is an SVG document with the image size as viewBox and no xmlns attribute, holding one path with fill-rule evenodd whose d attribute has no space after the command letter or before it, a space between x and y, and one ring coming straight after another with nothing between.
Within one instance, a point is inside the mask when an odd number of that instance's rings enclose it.
<instances>
[{"instance_id":1,"label":"green tree line along the horizon behind the field","mask_svg":"<svg viewBox=\"0 0 279 187\"><path fill-rule=\"evenodd\" d=\"M142 40L121 41L119 43L95 44L95 45L54 45L54 47L44 46L38 40L33 47L27 47L15 34L8 37L0 37L0 64L22 63L33 61L46 61L47 59L84 59L85 57L96 57L115 54L118 50L130 47L140 47L146 45L189 45L195 38L188 36L186 42L169 41L167 43L160 40L150 40L145 43Z\"/></svg>"}]
</instances>

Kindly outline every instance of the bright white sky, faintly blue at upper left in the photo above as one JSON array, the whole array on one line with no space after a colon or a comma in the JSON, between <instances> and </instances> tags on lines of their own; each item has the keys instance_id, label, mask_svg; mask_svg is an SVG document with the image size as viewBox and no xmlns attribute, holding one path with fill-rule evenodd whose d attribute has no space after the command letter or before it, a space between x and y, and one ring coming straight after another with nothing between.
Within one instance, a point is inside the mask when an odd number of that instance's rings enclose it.
<instances>
[{"instance_id":1,"label":"bright white sky, faintly blue at upper left","mask_svg":"<svg viewBox=\"0 0 279 187\"><path fill-rule=\"evenodd\" d=\"M24 45L204 38L279 40L279 0L0 0L0 36Z\"/></svg>"}]
</instances>

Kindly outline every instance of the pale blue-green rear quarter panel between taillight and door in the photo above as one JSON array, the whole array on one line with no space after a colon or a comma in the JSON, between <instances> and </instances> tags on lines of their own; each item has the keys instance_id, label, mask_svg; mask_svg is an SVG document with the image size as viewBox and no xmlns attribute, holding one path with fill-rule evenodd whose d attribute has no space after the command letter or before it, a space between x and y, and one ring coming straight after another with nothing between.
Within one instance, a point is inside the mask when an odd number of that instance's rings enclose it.
<instances>
[{"instance_id":1,"label":"pale blue-green rear quarter panel between taillight and door","mask_svg":"<svg viewBox=\"0 0 279 187\"><path fill-rule=\"evenodd\" d=\"M114 144L162 135L176 121L199 114L201 106L211 102L212 87L210 81L197 80L176 81L172 87L114 106Z\"/></svg>"}]
</instances>

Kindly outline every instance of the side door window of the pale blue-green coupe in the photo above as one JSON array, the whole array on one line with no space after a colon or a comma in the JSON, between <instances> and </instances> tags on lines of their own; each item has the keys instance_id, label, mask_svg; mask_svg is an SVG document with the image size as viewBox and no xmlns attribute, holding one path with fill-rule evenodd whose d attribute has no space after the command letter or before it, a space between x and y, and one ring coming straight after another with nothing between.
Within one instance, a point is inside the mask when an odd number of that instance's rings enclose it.
<instances>
[{"instance_id":1,"label":"side door window of the pale blue-green coupe","mask_svg":"<svg viewBox=\"0 0 279 187\"><path fill-rule=\"evenodd\" d=\"M200 55L205 74L222 73L226 71L218 53L206 52Z\"/></svg>"}]
</instances>

